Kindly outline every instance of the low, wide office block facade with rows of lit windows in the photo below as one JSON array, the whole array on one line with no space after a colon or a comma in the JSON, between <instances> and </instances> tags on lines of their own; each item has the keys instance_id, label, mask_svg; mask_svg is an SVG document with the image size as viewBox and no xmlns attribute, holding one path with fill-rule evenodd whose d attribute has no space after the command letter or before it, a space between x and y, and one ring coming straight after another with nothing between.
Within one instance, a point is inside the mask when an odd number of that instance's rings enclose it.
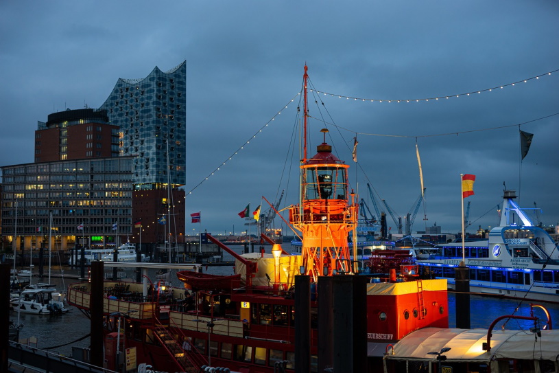
<instances>
[{"instance_id":1,"label":"low, wide office block facade with rows of lit windows","mask_svg":"<svg viewBox=\"0 0 559 373\"><path fill-rule=\"evenodd\" d=\"M38 247L49 227L61 249L82 237L86 245L115 243L117 234L124 242L132 232L133 165L134 157L110 157L3 167L5 242L17 233L16 247Z\"/></svg>"}]
</instances>

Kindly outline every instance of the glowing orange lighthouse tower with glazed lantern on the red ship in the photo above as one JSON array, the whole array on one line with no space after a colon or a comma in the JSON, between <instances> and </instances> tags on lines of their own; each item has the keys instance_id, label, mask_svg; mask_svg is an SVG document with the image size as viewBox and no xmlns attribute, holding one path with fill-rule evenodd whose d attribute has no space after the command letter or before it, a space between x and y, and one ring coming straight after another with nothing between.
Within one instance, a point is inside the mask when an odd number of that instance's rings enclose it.
<instances>
[{"instance_id":1,"label":"glowing orange lighthouse tower with glazed lantern on the red ship","mask_svg":"<svg viewBox=\"0 0 559 373\"><path fill-rule=\"evenodd\" d=\"M352 272L348 232L357 224L355 194L348 192L349 166L324 142L301 164L301 201L292 206L289 220L302 233L300 273L316 282L319 275Z\"/></svg>"}]
</instances>

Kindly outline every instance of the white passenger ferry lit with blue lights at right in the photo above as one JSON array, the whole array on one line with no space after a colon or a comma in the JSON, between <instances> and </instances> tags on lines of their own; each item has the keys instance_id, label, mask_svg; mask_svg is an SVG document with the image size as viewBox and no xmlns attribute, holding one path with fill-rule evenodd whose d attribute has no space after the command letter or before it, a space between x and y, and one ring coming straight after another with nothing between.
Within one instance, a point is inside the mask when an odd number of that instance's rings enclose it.
<instances>
[{"instance_id":1,"label":"white passenger ferry lit with blue lights at right","mask_svg":"<svg viewBox=\"0 0 559 373\"><path fill-rule=\"evenodd\" d=\"M501 222L486 241L465 242L470 291L559 303L559 248L534 225L506 190ZM439 252L416 264L431 277L446 278L454 288L455 267L462 261L462 243L438 245Z\"/></svg>"}]
</instances>

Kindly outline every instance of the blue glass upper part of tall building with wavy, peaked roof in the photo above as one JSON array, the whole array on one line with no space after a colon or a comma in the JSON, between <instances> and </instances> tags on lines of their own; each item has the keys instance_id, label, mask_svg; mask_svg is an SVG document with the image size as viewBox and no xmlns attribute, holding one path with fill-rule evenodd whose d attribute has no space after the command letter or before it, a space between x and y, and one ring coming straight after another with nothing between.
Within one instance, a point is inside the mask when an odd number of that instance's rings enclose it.
<instances>
[{"instance_id":1,"label":"blue glass upper part of tall building with wavy, peaked roof","mask_svg":"<svg viewBox=\"0 0 559 373\"><path fill-rule=\"evenodd\" d=\"M134 157L134 188L185 184L186 61L155 67L142 79L119 79L99 109L120 128L120 152Z\"/></svg>"}]
</instances>

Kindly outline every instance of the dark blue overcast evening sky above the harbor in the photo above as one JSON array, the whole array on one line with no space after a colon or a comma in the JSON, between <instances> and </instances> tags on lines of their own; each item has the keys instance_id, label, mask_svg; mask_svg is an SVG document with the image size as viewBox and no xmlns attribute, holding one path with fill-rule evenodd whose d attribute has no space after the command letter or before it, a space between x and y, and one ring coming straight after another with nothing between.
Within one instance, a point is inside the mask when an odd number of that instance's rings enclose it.
<instances>
[{"instance_id":1,"label":"dark blue overcast evening sky above the harbor","mask_svg":"<svg viewBox=\"0 0 559 373\"><path fill-rule=\"evenodd\" d=\"M503 183L556 225L559 71L543 74L559 69L558 20L555 0L2 1L0 166L34 160L50 113L98 108L118 78L187 60L187 215L202 212L187 233L239 234L248 203L297 201L307 63L311 87L335 95L311 93L309 156L329 128L373 214L367 183L396 216L414 212L417 144L414 231L460 230L461 173L477 177L468 231L497 225ZM460 97L432 99L447 95ZM534 134L523 161L519 129Z\"/></svg>"}]
</instances>

